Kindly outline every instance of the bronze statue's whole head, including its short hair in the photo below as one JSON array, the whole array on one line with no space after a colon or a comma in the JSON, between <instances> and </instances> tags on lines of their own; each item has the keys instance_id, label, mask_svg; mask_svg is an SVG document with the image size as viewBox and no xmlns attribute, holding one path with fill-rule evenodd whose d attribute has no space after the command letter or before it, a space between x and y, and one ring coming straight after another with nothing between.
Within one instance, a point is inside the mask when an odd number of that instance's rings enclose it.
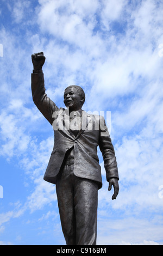
<instances>
[{"instance_id":1,"label":"bronze statue's whole head, including its short hair","mask_svg":"<svg viewBox=\"0 0 163 256\"><path fill-rule=\"evenodd\" d=\"M64 93L65 106L70 110L82 109L85 102L85 93L80 86L68 86Z\"/></svg>"}]
</instances>

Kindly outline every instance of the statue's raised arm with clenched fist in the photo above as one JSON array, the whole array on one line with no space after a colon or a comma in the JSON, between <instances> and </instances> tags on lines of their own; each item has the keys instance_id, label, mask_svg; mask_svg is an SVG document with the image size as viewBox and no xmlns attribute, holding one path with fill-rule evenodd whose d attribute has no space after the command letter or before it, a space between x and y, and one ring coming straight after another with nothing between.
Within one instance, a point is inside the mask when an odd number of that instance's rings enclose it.
<instances>
[{"instance_id":1,"label":"statue's raised arm with clenched fist","mask_svg":"<svg viewBox=\"0 0 163 256\"><path fill-rule=\"evenodd\" d=\"M49 123L52 124L52 114L59 108L46 94L44 76L42 72L42 66L45 63L45 56L43 56L43 52L32 54L32 62L33 74L31 75L31 88L33 101Z\"/></svg>"}]
</instances>

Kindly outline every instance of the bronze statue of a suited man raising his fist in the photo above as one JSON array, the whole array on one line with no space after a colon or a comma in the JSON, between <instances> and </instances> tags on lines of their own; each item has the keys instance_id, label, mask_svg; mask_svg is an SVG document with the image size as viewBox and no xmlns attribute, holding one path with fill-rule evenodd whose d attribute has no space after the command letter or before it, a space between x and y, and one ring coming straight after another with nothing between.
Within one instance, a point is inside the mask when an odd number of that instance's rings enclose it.
<instances>
[{"instance_id":1,"label":"bronze statue of a suited man raising his fist","mask_svg":"<svg viewBox=\"0 0 163 256\"><path fill-rule=\"evenodd\" d=\"M56 184L62 231L67 245L96 245L98 190L102 187L97 147L102 152L108 190L116 199L118 169L114 147L102 116L87 114L85 94L79 86L65 89L67 109L58 108L45 92L43 52L32 54L33 101L53 126L54 148L45 179Z\"/></svg>"}]
</instances>

